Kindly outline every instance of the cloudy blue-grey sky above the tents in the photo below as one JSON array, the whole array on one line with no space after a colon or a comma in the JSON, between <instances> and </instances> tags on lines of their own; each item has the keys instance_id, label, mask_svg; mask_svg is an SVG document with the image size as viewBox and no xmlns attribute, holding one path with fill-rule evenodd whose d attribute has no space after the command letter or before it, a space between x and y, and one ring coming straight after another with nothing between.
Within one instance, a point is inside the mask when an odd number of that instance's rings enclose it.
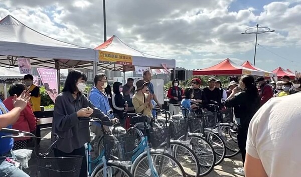
<instances>
[{"instance_id":1,"label":"cloudy blue-grey sky above the tents","mask_svg":"<svg viewBox=\"0 0 301 177\"><path fill-rule=\"evenodd\" d=\"M42 34L94 48L104 42L102 7L100 0L0 0L0 19L12 15ZM301 0L106 1L107 38L186 69L226 58L253 63L255 35L241 33L259 24L275 32L258 35L256 66L301 71L300 19Z\"/></svg>"}]
</instances>

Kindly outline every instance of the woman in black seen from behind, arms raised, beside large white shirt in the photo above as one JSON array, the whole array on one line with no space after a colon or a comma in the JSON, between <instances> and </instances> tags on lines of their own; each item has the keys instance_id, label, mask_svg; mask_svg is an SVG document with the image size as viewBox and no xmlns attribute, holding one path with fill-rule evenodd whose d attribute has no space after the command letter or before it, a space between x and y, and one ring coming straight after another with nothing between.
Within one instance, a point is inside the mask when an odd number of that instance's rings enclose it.
<instances>
[{"instance_id":1,"label":"woman in black seen from behind, arms raised, beside large white shirt","mask_svg":"<svg viewBox=\"0 0 301 177\"><path fill-rule=\"evenodd\" d=\"M225 106L234 108L235 119L238 123L237 141L244 163L249 124L260 107L260 97L252 75L241 77L239 86L234 88L230 96L225 100ZM234 172L244 176L243 167L235 169Z\"/></svg>"}]
</instances>

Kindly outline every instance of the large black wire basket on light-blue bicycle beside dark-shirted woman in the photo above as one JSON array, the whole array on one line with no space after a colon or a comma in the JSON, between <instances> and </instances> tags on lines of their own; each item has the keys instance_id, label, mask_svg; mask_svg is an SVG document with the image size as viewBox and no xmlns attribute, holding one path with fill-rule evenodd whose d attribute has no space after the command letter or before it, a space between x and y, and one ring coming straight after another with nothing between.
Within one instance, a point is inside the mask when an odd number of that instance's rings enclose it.
<instances>
[{"instance_id":1,"label":"large black wire basket on light-blue bicycle beside dark-shirted woman","mask_svg":"<svg viewBox=\"0 0 301 177\"><path fill-rule=\"evenodd\" d=\"M130 134L105 134L103 138L106 160L128 161L133 156L136 137Z\"/></svg>"}]
</instances>

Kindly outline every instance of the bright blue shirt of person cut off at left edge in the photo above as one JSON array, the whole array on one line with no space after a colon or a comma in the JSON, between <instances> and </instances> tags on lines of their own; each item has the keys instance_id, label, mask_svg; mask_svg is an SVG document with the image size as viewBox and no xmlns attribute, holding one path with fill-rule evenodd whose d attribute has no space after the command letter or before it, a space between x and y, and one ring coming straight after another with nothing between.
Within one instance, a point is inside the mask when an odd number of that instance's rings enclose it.
<instances>
[{"instance_id":1,"label":"bright blue shirt of person cut off at left edge","mask_svg":"<svg viewBox=\"0 0 301 177\"><path fill-rule=\"evenodd\" d=\"M3 104L3 102L0 100L0 106L6 110L6 112L9 112L9 110L5 107L5 105ZM0 109L0 115L4 114L4 112ZM1 119L0 119L1 121ZM12 125L9 125L7 128L13 128ZM11 135L11 134L7 134L7 133L2 133L0 131L0 154L4 154L9 152L13 146L14 146L14 139L13 138L1 138L1 136L5 136L5 135Z\"/></svg>"}]
</instances>

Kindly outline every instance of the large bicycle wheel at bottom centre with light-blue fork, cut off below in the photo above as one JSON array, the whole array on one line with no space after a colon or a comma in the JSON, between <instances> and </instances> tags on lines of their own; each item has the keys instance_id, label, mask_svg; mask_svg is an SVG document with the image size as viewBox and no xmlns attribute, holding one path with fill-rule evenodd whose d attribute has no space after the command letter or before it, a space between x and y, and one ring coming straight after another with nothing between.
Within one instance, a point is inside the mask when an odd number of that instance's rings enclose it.
<instances>
[{"instance_id":1,"label":"large bicycle wheel at bottom centre with light-blue fork, cut off below","mask_svg":"<svg viewBox=\"0 0 301 177\"><path fill-rule=\"evenodd\" d=\"M158 176L153 176L149 168L147 153L139 158L135 166L132 166L135 177L181 177L186 176L181 164L170 154L150 152L150 157L154 161L154 167ZM134 162L135 163L135 162Z\"/></svg>"}]
</instances>

